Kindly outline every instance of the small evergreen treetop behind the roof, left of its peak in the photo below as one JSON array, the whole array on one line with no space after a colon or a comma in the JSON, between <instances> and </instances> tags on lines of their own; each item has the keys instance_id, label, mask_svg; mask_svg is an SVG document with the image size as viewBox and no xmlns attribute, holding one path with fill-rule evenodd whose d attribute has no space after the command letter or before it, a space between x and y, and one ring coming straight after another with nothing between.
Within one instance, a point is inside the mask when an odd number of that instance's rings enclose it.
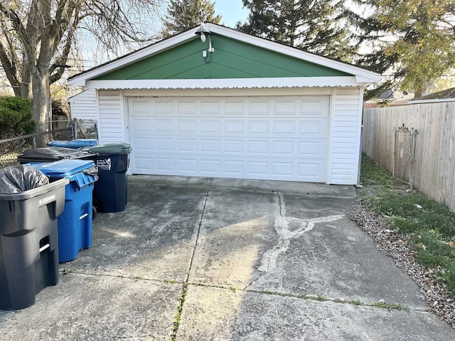
<instances>
[{"instance_id":1,"label":"small evergreen treetop behind the roof, left of its peak","mask_svg":"<svg viewBox=\"0 0 455 341\"><path fill-rule=\"evenodd\" d=\"M173 36L205 21L220 23L215 16L215 4L210 0L171 0L163 20L163 37Z\"/></svg>"}]
</instances>

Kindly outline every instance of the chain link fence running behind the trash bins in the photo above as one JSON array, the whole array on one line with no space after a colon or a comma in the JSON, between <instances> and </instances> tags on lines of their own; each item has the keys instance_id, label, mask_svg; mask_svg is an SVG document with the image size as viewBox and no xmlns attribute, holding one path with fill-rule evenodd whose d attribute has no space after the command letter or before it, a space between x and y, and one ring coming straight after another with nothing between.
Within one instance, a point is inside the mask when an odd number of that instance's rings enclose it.
<instances>
[{"instance_id":1,"label":"chain link fence running behind the trash bins","mask_svg":"<svg viewBox=\"0 0 455 341\"><path fill-rule=\"evenodd\" d=\"M71 141L75 138L73 126L65 129L35 133L0 140L0 168L16 165L17 157L28 149L47 146L50 141Z\"/></svg>"}]
</instances>

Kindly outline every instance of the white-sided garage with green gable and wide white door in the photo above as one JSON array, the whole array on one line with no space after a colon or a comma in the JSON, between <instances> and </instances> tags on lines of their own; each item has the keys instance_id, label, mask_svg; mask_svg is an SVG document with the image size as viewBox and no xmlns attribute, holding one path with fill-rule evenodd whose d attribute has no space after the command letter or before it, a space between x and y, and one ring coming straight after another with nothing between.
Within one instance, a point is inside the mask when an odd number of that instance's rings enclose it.
<instances>
[{"instance_id":1,"label":"white-sided garage with green gable and wide white door","mask_svg":"<svg viewBox=\"0 0 455 341\"><path fill-rule=\"evenodd\" d=\"M194 28L71 77L76 118L132 145L129 174L358 183L363 89L380 75L205 26L209 45Z\"/></svg>"}]
</instances>

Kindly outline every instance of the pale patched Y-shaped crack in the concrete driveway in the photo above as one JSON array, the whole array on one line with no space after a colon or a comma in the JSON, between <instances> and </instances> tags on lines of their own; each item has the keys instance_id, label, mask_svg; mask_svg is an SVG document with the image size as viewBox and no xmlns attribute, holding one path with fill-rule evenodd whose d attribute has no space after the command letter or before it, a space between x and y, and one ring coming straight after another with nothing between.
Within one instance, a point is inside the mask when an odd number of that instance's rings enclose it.
<instances>
[{"instance_id":1,"label":"pale patched Y-shaped crack in the concrete driveway","mask_svg":"<svg viewBox=\"0 0 455 341\"><path fill-rule=\"evenodd\" d=\"M313 219L299 219L295 217L287 217L286 214L286 205L284 203L284 198L281 193L277 193L277 203L279 207L279 212L275 215L274 228L278 234L278 243L272 249L269 249L264 252L262 255L261 265L257 268L263 273L267 273L272 269L277 268L277 259L278 256L287 251L291 239L301 237L306 232L310 232L314 229L315 224L320 224L323 222L333 222L335 220L340 220L345 215L329 215L326 217L317 217ZM293 222L299 226L297 229L289 229L289 224Z\"/></svg>"}]
</instances>

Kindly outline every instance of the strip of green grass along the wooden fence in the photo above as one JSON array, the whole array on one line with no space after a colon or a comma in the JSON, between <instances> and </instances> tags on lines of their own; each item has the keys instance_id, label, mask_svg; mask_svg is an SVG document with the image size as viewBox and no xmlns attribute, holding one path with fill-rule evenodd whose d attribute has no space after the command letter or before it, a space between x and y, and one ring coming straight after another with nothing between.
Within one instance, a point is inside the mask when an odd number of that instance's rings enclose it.
<instances>
[{"instance_id":1,"label":"strip of green grass along the wooden fence","mask_svg":"<svg viewBox=\"0 0 455 341\"><path fill-rule=\"evenodd\" d=\"M432 269L455 298L455 214L417 191L404 190L399 180L368 156L362 156L359 195L410 242L417 263ZM375 195L365 189L375 188Z\"/></svg>"}]
</instances>

